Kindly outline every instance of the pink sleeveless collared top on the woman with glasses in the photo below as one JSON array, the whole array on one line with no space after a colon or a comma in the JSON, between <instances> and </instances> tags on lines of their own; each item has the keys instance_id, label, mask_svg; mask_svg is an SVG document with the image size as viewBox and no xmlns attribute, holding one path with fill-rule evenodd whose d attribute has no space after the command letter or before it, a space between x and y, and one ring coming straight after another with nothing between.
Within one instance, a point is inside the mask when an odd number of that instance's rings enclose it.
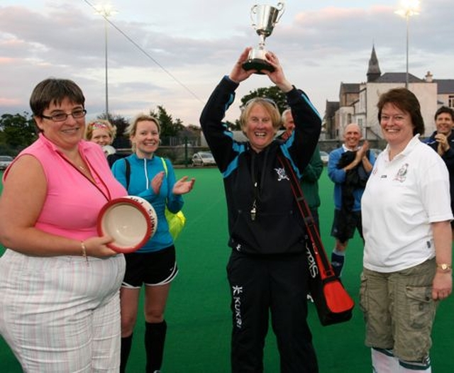
<instances>
[{"instance_id":1,"label":"pink sleeveless collared top on the woman with glasses","mask_svg":"<svg viewBox=\"0 0 454 373\"><path fill-rule=\"evenodd\" d=\"M98 235L96 221L102 206L111 199L126 196L127 192L114 178L99 145L81 140L79 152L89 165L95 183L79 172L43 134L18 157L36 157L48 182L47 196L35 227L54 235L85 240Z\"/></svg>"}]
</instances>

